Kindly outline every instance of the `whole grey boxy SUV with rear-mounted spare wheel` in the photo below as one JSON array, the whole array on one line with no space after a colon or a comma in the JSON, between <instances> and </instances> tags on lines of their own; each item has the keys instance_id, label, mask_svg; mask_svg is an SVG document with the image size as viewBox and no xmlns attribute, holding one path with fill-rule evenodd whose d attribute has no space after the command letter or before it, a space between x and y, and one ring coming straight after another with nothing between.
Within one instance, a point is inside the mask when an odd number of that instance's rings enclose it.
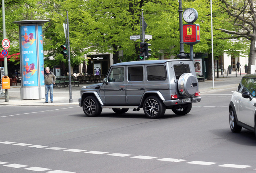
<instances>
[{"instance_id":1,"label":"whole grey boxy SUV with rear-mounted spare wheel","mask_svg":"<svg viewBox=\"0 0 256 173\"><path fill-rule=\"evenodd\" d=\"M145 60L111 65L103 83L83 87L78 101L88 117L103 108L115 113L143 108L147 117L159 118L166 109L189 113L199 96L192 60Z\"/></svg>"}]
</instances>

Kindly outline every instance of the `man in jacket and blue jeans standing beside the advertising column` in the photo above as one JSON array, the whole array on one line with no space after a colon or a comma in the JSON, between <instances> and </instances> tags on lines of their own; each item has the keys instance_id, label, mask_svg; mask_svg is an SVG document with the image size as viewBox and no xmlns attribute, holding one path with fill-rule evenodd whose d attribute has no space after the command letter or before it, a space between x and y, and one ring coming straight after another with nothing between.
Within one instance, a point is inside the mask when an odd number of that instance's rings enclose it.
<instances>
[{"instance_id":1,"label":"man in jacket and blue jeans standing beside the advertising column","mask_svg":"<svg viewBox=\"0 0 256 173\"><path fill-rule=\"evenodd\" d=\"M48 103L48 93L50 90L50 99L51 103L53 103L53 86L56 81L56 76L50 72L50 68L46 67L45 68L45 74L44 74L44 84L45 84L45 102L43 103Z\"/></svg>"}]
</instances>

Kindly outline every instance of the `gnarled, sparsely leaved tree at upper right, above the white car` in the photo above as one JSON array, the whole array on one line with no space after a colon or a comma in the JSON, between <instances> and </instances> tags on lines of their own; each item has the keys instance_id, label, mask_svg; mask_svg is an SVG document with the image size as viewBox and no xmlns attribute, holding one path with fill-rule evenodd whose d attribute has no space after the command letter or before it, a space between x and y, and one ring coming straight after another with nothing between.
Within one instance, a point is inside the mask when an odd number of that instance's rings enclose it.
<instances>
[{"instance_id":1,"label":"gnarled, sparsely leaved tree at upper right, above the white car","mask_svg":"<svg viewBox=\"0 0 256 173\"><path fill-rule=\"evenodd\" d=\"M256 6L254 0L220 0L222 8L233 19L234 30L219 28L229 34L228 39L246 38L250 40L250 53L247 74L250 74L251 65L255 65L256 55Z\"/></svg>"}]
</instances>

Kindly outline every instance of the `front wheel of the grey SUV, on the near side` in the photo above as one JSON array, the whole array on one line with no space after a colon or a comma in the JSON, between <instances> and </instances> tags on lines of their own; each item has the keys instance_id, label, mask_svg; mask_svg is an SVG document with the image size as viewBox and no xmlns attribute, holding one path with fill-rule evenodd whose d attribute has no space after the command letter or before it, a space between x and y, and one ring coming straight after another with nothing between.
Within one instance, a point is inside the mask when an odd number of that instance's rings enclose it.
<instances>
[{"instance_id":1,"label":"front wheel of the grey SUV, on the near side","mask_svg":"<svg viewBox=\"0 0 256 173\"><path fill-rule=\"evenodd\" d=\"M101 114L102 108L95 97L88 96L83 101L83 111L87 117L96 117Z\"/></svg>"}]
</instances>

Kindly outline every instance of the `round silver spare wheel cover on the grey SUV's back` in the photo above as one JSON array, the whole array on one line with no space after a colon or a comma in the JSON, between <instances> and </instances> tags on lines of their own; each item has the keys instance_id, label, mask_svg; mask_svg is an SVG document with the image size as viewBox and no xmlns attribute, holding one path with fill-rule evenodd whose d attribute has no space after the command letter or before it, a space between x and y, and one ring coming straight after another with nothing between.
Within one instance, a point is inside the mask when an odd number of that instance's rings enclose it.
<instances>
[{"instance_id":1,"label":"round silver spare wheel cover on the grey SUV's back","mask_svg":"<svg viewBox=\"0 0 256 173\"><path fill-rule=\"evenodd\" d=\"M178 80L178 89L182 96L192 97L198 91L198 82L192 73L184 73Z\"/></svg>"}]
</instances>

